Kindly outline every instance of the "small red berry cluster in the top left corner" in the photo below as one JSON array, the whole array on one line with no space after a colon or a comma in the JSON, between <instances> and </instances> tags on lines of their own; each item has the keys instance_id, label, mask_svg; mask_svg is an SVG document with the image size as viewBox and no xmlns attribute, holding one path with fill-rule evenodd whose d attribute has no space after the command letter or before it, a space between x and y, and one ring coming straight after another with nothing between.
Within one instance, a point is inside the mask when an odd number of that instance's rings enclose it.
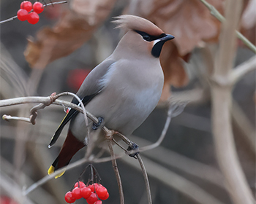
<instances>
[{"instance_id":1,"label":"small red berry cluster in the top left corner","mask_svg":"<svg viewBox=\"0 0 256 204\"><path fill-rule=\"evenodd\" d=\"M33 11L32 11L33 9ZM28 20L31 24L36 24L39 21L39 13L44 10L44 6L36 1L33 5L30 1L23 1L20 4L20 9L17 12L18 20Z\"/></svg>"}]
</instances>

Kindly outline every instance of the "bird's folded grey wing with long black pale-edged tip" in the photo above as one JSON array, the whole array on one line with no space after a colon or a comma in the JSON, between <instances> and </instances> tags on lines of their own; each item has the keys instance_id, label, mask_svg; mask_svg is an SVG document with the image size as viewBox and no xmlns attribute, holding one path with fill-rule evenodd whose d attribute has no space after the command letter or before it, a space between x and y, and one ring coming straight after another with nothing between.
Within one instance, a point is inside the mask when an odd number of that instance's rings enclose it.
<instances>
[{"instance_id":1,"label":"bird's folded grey wing with long black pale-edged tip","mask_svg":"<svg viewBox=\"0 0 256 204\"><path fill-rule=\"evenodd\" d=\"M113 63L115 63L114 60L107 59L103 61L98 66L96 66L83 81L83 84L80 86L77 95L79 98L81 98L84 106L86 106L86 104L89 103L89 101L91 101L91 99L94 98L95 95L98 95L102 91L105 86L103 79L105 78L105 75L107 74ZM77 105L79 104L76 98L73 98L72 103L75 103ZM48 145L49 148L56 143L64 126L67 124L67 122L69 122L70 119L72 119L72 117L75 117L78 112L79 111L75 109L69 110L69 112L66 114L61 124L59 125L58 129L54 133L53 137L51 138L50 144Z\"/></svg>"}]
</instances>

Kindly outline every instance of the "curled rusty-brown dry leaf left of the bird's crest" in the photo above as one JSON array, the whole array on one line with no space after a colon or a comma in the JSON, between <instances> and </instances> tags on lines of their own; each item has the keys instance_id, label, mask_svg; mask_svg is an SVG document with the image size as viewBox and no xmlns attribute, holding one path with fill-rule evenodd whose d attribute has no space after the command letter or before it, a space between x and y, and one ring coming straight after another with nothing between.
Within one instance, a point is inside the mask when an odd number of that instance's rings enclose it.
<instances>
[{"instance_id":1,"label":"curled rusty-brown dry leaf left of the bird's crest","mask_svg":"<svg viewBox=\"0 0 256 204\"><path fill-rule=\"evenodd\" d=\"M32 68L45 68L48 63L67 56L86 42L108 17L116 0L73 0L53 28L42 28L36 39L28 39L24 52Z\"/></svg>"}]
</instances>

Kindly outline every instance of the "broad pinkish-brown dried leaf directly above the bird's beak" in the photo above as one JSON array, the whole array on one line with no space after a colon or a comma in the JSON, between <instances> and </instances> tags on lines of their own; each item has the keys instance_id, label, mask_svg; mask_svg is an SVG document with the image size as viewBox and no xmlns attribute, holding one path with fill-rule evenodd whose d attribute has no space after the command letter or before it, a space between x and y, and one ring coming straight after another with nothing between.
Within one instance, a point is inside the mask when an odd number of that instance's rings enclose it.
<instances>
[{"instance_id":1,"label":"broad pinkish-brown dried leaf directly above the bird's beak","mask_svg":"<svg viewBox=\"0 0 256 204\"><path fill-rule=\"evenodd\" d=\"M222 1L208 2L222 11ZM187 55L201 41L219 35L219 21L198 0L144 0L138 4L137 12L173 34L180 55Z\"/></svg>"}]
</instances>

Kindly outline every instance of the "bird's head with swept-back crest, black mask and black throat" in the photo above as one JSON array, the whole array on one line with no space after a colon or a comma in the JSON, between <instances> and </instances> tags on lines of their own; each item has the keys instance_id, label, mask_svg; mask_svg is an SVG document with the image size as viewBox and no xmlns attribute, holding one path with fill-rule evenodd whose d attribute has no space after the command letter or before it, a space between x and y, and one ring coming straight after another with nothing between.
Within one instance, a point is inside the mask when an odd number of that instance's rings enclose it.
<instances>
[{"instance_id":1,"label":"bird's head with swept-back crest, black mask and black throat","mask_svg":"<svg viewBox=\"0 0 256 204\"><path fill-rule=\"evenodd\" d=\"M124 28L127 34L121 39L121 47L129 47L133 51L147 52L159 58L162 46L174 36L165 34L151 21L135 15L121 15L113 23L117 28Z\"/></svg>"}]
</instances>

